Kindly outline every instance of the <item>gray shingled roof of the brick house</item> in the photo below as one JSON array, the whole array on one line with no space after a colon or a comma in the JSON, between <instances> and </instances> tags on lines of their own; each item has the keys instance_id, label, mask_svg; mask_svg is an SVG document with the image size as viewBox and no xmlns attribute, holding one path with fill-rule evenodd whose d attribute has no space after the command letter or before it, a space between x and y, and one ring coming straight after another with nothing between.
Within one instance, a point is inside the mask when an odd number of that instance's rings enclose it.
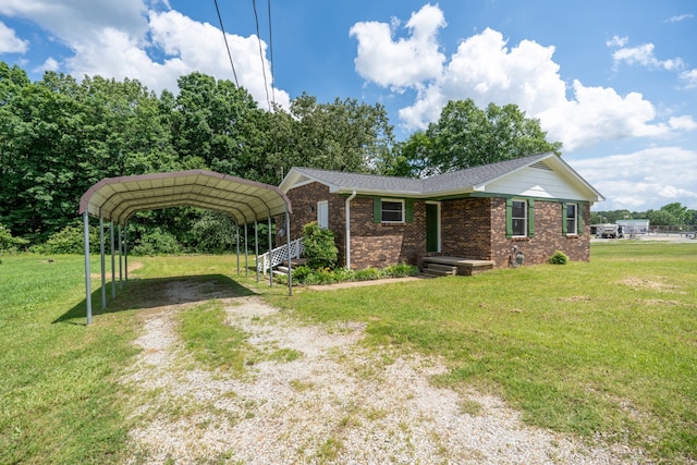
<instances>
[{"instance_id":1,"label":"gray shingled roof of the brick house","mask_svg":"<svg viewBox=\"0 0 697 465\"><path fill-rule=\"evenodd\" d=\"M506 173L527 167L549 157L550 152L485 164L466 170L452 171L431 178L416 180L411 178L379 176L343 171L317 170L314 168L294 168L308 179L330 185L337 191L389 192L404 195L437 195L453 191L467 192L475 186L493 181Z\"/></svg>"}]
</instances>

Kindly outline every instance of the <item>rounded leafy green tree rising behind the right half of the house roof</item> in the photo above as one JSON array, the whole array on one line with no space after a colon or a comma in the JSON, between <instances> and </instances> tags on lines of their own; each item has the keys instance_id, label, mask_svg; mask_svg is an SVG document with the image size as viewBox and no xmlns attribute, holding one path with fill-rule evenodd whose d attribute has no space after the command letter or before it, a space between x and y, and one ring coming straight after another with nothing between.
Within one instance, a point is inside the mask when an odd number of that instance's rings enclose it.
<instances>
[{"instance_id":1,"label":"rounded leafy green tree rising behind the right half of the house roof","mask_svg":"<svg viewBox=\"0 0 697 465\"><path fill-rule=\"evenodd\" d=\"M451 100L438 122L407 140L403 155L416 174L431 175L545 151L560 155L561 143L546 137L539 121L515 105L481 110L472 99Z\"/></svg>"}]
</instances>

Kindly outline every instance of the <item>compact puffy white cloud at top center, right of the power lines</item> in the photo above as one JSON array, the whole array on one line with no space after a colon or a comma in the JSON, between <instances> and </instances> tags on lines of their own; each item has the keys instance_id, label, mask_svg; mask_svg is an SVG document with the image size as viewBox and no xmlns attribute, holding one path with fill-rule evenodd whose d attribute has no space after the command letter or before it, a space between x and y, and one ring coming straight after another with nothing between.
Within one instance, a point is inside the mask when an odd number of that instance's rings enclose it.
<instances>
[{"instance_id":1,"label":"compact puffy white cloud at top center, right of the power lines","mask_svg":"<svg viewBox=\"0 0 697 465\"><path fill-rule=\"evenodd\" d=\"M392 19L392 26L399 21ZM412 87L440 75L445 57L438 51L438 30L445 26L442 11L427 4L406 23L407 39L394 40L386 23L356 23L350 35L358 39L356 71L368 81L395 88Z\"/></svg>"}]
</instances>

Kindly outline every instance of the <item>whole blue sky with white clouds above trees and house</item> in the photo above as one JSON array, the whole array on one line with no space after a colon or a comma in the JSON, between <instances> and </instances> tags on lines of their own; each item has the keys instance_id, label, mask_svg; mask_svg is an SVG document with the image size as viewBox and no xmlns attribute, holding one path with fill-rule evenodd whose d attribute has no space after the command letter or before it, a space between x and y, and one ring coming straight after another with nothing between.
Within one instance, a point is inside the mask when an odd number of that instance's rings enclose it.
<instances>
[{"instance_id":1,"label":"whole blue sky with white clouds above trees and house","mask_svg":"<svg viewBox=\"0 0 697 465\"><path fill-rule=\"evenodd\" d=\"M450 99L516 103L606 196L594 209L697 209L693 0L259 0L260 44L252 1L218 4L261 108L264 73L281 105L381 102L402 139ZM0 60L156 91L193 71L233 79L213 0L2 0Z\"/></svg>"}]
</instances>

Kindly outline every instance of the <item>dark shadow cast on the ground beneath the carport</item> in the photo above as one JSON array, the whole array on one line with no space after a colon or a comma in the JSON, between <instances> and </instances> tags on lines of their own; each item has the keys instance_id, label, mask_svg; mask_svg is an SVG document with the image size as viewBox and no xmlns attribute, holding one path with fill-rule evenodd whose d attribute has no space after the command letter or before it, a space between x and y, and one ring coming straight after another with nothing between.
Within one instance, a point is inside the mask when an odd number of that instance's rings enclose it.
<instances>
[{"instance_id":1,"label":"dark shadow cast on the ground beneath the carport","mask_svg":"<svg viewBox=\"0 0 697 465\"><path fill-rule=\"evenodd\" d=\"M119 287L111 298L111 283L107 289L107 308L101 308L101 286L91 293L91 315L114 314L125 310L157 309L168 305L191 304L211 298L233 298L257 295L239 282L223 274L134 279ZM87 305L80 304L53 320L53 323L86 325ZM94 322L94 321L93 321Z\"/></svg>"}]
</instances>

